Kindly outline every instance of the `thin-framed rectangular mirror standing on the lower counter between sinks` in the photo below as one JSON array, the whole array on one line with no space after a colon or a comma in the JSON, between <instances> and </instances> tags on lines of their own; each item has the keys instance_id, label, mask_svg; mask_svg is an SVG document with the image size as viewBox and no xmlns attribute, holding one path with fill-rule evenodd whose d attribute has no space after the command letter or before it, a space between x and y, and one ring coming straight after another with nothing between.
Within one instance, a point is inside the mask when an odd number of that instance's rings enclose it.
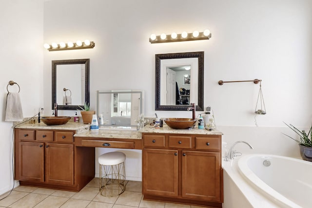
<instances>
[{"instance_id":1,"label":"thin-framed rectangular mirror standing on the lower counter between sinks","mask_svg":"<svg viewBox=\"0 0 312 208\"><path fill-rule=\"evenodd\" d=\"M97 92L97 114L103 115L103 126L136 127L137 117L144 113L144 92L111 90Z\"/></svg>"}]
</instances>

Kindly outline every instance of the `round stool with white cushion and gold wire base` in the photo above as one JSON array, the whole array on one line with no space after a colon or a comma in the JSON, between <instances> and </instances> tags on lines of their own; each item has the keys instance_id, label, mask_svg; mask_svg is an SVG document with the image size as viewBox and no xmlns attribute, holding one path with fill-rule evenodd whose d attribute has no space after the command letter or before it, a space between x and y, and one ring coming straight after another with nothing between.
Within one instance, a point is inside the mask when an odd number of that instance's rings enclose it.
<instances>
[{"instance_id":1,"label":"round stool with white cushion and gold wire base","mask_svg":"<svg viewBox=\"0 0 312 208\"><path fill-rule=\"evenodd\" d=\"M113 197L125 191L125 160L126 155L120 151L104 153L98 157L101 195Z\"/></svg>"}]
</instances>

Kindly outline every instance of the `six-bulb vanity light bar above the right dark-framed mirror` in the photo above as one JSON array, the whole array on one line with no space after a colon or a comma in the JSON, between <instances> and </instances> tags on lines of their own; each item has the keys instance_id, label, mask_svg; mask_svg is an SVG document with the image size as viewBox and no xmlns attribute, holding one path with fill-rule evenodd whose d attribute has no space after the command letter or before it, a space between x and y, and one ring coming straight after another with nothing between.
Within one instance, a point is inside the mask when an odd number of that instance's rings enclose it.
<instances>
[{"instance_id":1,"label":"six-bulb vanity light bar above the right dark-framed mirror","mask_svg":"<svg viewBox=\"0 0 312 208\"><path fill-rule=\"evenodd\" d=\"M204 32L194 31L193 33L183 32L181 34L172 33L171 35L161 34L156 36L152 34L150 37L150 43L163 43L163 42L179 42L179 41L190 41L190 40L205 40L211 38L209 30Z\"/></svg>"}]
</instances>

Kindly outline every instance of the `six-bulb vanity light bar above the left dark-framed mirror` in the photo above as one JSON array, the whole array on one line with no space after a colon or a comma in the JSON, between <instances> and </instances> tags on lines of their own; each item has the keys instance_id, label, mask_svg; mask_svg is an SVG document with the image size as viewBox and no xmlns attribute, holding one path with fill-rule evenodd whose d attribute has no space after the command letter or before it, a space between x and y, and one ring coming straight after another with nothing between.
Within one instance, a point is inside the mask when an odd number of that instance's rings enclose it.
<instances>
[{"instance_id":1,"label":"six-bulb vanity light bar above the left dark-framed mirror","mask_svg":"<svg viewBox=\"0 0 312 208\"><path fill-rule=\"evenodd\" d=\"M76 50L76 49L86 49L86 48L94 48L95 43L93 41L85 40L84 42L81 42L80 40L77 40L77 42L60 42L52 43L51 45L48 43L45 43L43 45L44 48L48 49L48 51L62 51L62 50Z\"/></svg>"}]
</instances>

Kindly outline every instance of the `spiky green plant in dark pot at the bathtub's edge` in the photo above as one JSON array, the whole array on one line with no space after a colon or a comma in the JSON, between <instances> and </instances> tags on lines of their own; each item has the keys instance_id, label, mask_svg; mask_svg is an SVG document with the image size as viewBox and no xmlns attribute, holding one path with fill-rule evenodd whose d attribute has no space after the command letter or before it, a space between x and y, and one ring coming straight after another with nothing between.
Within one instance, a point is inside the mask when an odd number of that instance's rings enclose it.
<instances>
[{"instance_id":1,"label":"spiky green plant in dark pot at the bathtub's edge","mask_svg":"<svg viewBox=\"0 0 312 208\"><path fill-rule=\"evenodd\" d=\"M286 123L284 122L284 124ZM308 134L304 130L302 131L298 130L297 128L292 126L292 124L290 125L286 124L286 125L289 128L291 128L292 131L296 132L300 136L300 140L294 139L285 133L283 134L288 136L289 138L291 138L292 140L294 140L295 142L299 144L300 155L302 159L312 162L312 133L311 133L312 125L310 127Z\"/></svg>"}]
</instances>

